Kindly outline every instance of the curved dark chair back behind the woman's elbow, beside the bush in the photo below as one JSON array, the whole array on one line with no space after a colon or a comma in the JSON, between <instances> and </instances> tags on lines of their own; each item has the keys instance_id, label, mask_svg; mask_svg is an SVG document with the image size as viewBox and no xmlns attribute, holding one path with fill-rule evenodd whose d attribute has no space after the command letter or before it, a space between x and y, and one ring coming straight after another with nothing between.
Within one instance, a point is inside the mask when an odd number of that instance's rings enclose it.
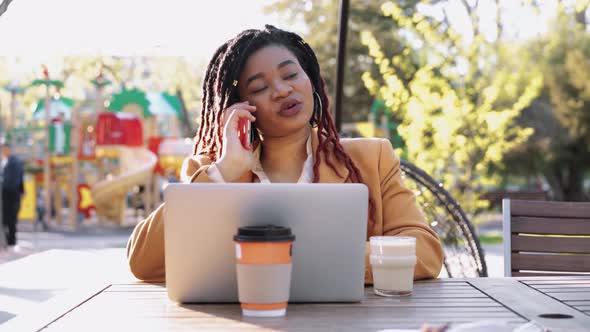
<instances>
[{"instance_id":1,"label":"curved dark chair back behind the woman's elbow, beside the bush","mask_svg":"<svg viewBox=\"0 0 590 332\"><path fill-rule=\"evenodd\" d=\"M416 194L430 227L440 238L445 271L450 278L487 277L484 252L473 224L442 184L414 164L401 160L404 185Z\"/></svg>"}]
</instances>

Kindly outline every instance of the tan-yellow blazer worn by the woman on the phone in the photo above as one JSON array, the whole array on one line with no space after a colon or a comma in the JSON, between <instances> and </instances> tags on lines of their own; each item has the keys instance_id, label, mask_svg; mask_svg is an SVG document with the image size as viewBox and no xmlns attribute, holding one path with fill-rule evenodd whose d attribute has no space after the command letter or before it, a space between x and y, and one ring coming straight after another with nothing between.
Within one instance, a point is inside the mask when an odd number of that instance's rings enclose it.
<instances>
[{"instance_id":1,"label":"tan-yellow blazer worn by the woman on the phone","mask_svg":"<svg viewBox=\"0 0 590 332\"><path fill-rule=\"evenodd\" d=\"M312 148L318 147L317 133L312 132ZM428 226L424 214L416 204L414 194L401 181L399 159L394 155L386 139L357 138L342 139L344 150L350 155L363 181L369 188L369 195L375 202L375 224L368 230L369 235L404 235L416 237L417 263L414 279L436 278L441 270L443 251L436 234ZM348 175L346 167L333 154L330 160L339 177L325 162L319 165L320 182L343 183ZM207 175L211 160L192 156L184 161L185 182L213 182ZM249 171L237 182L252 182L254 174ZM149 217L141 221L127 243L127 258L131 272L141 280L163 281L164 269L164 215L160 205ZM372 283L368 260L368 243L365 255L365 282Z\"/></svg>"}]
</instances>

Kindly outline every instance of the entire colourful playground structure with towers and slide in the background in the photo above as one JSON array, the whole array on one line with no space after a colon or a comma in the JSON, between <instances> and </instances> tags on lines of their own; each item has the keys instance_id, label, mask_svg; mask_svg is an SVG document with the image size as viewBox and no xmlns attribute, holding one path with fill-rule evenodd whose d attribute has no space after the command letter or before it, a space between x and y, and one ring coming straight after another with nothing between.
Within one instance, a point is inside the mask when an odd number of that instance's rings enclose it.
<instances>
[{"instance_id":1,"label":"entire colourful playground structure with towers and slide in the background","mask_svg":"<svg viewBox=\"0 0 590 332\"><path fill-rule=\"evenodd\" d=\"M45 98L33 111L33 124L18 129L29 172L22 219L34 220L42 203L43 218L61 223L65 204L73 227L92 211L99 221L123 224L131 192L141 193L149 212L161 199L160 182L179 177L192 149L190 139L178 138L181 101L123 88L104 102L102 90L111 82L99 74L92 83L96 98L85 101L62 96L63 83L49 79L45 67L43 79L32 83L45 88Z\"/></svg>"}]
</instances>

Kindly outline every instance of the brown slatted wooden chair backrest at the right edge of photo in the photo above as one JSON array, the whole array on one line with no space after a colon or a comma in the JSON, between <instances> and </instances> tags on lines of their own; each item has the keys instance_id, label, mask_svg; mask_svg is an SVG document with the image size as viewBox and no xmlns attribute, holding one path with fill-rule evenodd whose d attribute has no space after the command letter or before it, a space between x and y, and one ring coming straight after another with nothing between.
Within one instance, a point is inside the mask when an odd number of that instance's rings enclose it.
<instances>
[{"instance_id":1,"label":"brown slatted wooden chair backrest at the right edge of photo","mask_svg":"<svg viewBox=\"0 0 590 332\"><path fill-rule=\"evenodd\" d=\"M504 275L590 274L590 202L504 199Z\"/></svg>"}]
</instances>

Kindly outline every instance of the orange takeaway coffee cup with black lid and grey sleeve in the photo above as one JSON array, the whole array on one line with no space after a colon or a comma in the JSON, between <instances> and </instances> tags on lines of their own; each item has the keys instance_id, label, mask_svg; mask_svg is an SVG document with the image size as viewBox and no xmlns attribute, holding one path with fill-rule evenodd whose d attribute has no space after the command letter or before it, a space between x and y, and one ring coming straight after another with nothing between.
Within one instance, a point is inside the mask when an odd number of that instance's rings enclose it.
<instances>
[{"instance_id":1,"label":"orange takeaway coffee cup with black lid and grey sleeve","mask_svg":"<svg viewBox=\"0 0 590 332\"><path fill-rule=\"evenodd\" d=\"M238 298L244 316L284 316L295 236L288 227L240 227L234 236Z\"/></svg>"}]
</instances>

